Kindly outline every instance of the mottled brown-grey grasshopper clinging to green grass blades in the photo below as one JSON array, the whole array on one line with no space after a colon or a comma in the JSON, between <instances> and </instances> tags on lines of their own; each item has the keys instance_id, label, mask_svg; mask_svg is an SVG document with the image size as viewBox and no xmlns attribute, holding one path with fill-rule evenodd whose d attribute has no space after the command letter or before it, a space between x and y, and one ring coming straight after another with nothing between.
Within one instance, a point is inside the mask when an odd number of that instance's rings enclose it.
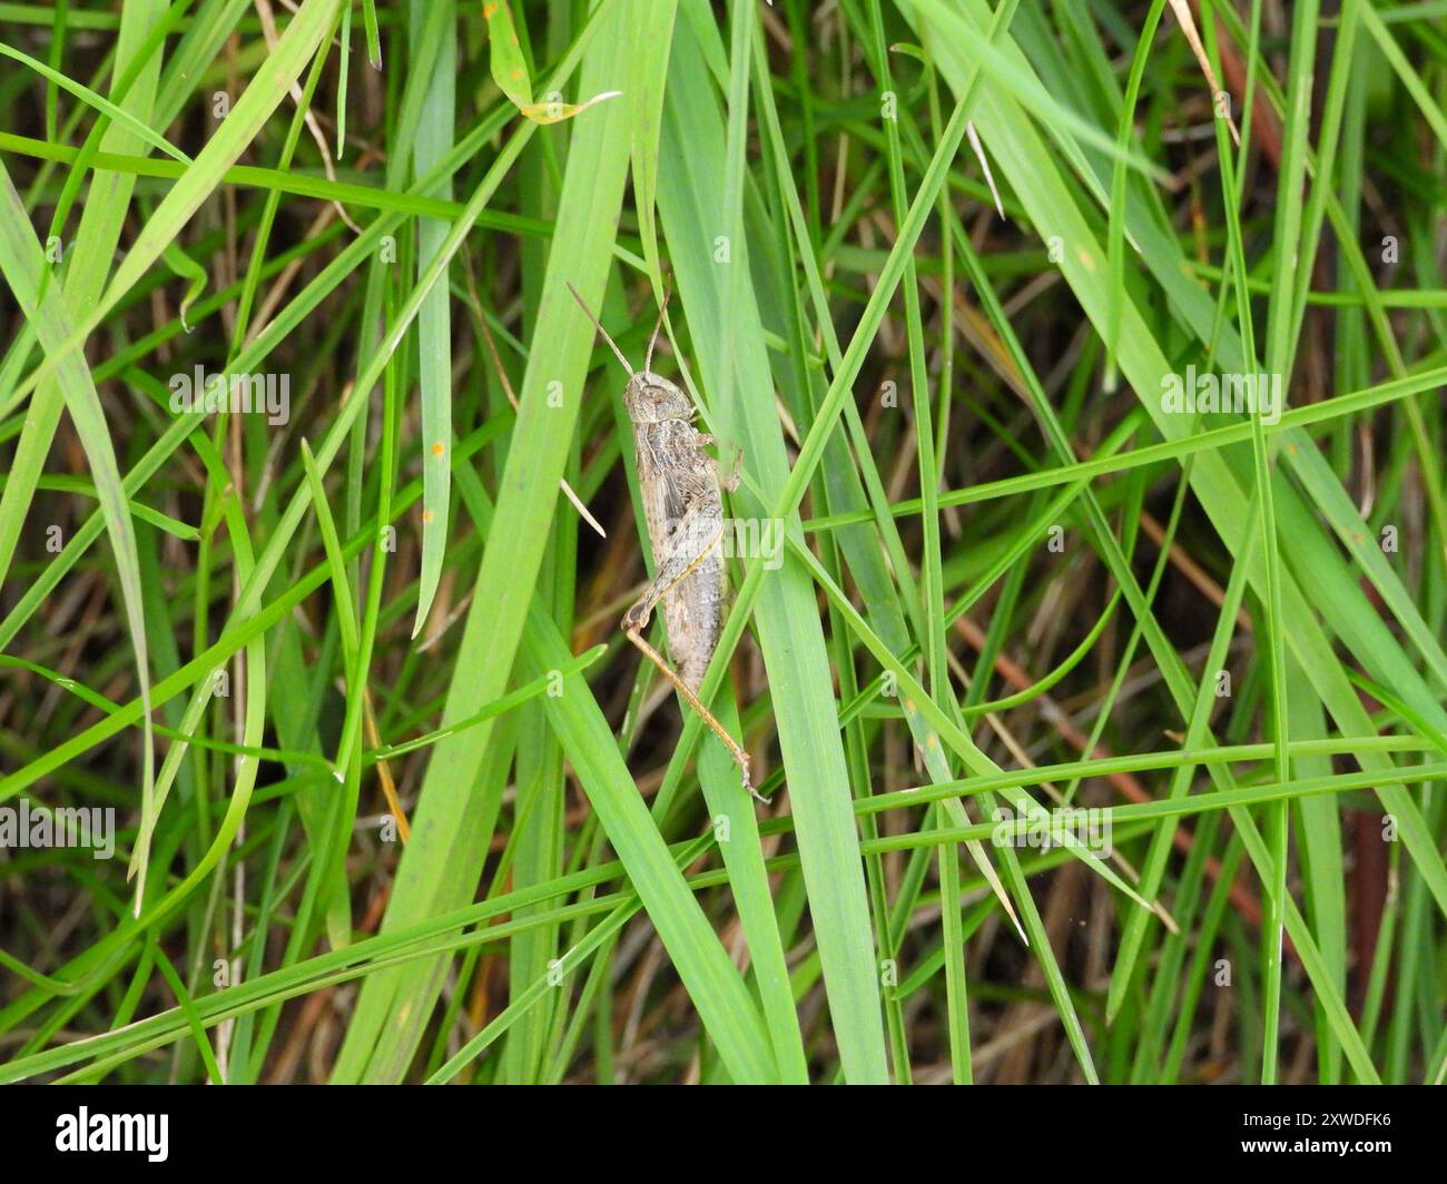
<instances>
[{"instance_id":1,"label":"mottled brown-grey grasshopper clinging to green grass blades","mask_svg":"<svg viewBox=\"0 0 1447 1184\"><path fill-rule=\"evenodd\" d=\"M624 404L632 421L638 488L657 567L642 596L624 614L624 634L724 741L738 763L744 789L758 798L748 780L748 754L697 695L724 627L721 488L729 492L738 488L738 463L729 476L719 473L718 462L703 452L716 441L693 427L697 408L682 389L653 372L653 347L663 329L669 298L664 297L658 310L642 369L635 371L577 289L572 284L567 289L628 373ZM660 604L669 634L669 656L677 663L677 670L642 635Z\"/></svg>"}]
</instances>

